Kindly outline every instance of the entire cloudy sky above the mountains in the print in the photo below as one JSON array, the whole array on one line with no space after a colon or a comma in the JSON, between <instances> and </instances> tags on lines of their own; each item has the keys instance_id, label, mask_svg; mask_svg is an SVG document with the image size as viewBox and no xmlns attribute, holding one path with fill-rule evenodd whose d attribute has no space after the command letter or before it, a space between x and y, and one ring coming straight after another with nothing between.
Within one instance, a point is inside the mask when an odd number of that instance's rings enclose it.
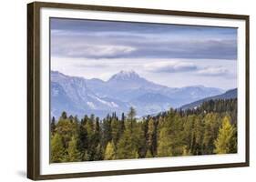
<instances>
[{"instance_id":1,"label":"entire cloudy sky above the mountains in the print","mask_svg":"<svg viewBox=\"0 0 256 182\"><path fill-rule=\"evenodd\" d=\"M51 18L51 69L108 78L134 70L170 86L237 86L237 29Z\"/></svg>"}]
</instances>

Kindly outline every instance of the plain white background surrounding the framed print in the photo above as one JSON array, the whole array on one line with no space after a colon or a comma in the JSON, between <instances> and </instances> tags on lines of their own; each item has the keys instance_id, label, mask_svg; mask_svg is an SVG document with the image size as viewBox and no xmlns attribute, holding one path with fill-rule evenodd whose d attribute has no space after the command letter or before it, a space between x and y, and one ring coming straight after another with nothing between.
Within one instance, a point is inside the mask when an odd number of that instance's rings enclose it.
<instances>
[{"instance_id":1,"label":"plain white background surrounding the framed print","mask_svg":"<svg viewBox=\"0 0 256 182\"><path fill-rule=\"evenodd\" d=\"M46 0L45 0L46 1ZM51 0L52 2L117 5L169 10L251 15L251 167L169 172L62 181L243 181L256 177L256 11L252 0ZM0 5L0 181L26 179L26 3ZM254 82L254 83L253 83Z\"/></svg>"}]
</instances>

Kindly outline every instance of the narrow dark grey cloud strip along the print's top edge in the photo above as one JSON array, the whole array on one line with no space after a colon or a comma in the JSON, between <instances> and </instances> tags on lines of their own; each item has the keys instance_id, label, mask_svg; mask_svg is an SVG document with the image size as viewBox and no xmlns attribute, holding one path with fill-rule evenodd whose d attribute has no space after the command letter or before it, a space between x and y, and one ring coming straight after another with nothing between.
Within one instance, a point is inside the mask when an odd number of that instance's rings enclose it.
<instances>
[{"instance_id":1,"label":"narrow dark grey cloud strip along the print's top edge","mask_svg":"<svg viewBox=\"0 0 256 182\"><path fill-rule=\"evenodd\" d=\"M236 29L230 27L214 27L200 25L171 25L171 24L152 24L138 22L102 21L88 19L71 18L51 18L51 28L53 30L69 30L75 32L130 32L142 34L161 34L161 33L192 33L197 34L201 31L209 34L234 35Z\"/></svg>"}]
</instances>

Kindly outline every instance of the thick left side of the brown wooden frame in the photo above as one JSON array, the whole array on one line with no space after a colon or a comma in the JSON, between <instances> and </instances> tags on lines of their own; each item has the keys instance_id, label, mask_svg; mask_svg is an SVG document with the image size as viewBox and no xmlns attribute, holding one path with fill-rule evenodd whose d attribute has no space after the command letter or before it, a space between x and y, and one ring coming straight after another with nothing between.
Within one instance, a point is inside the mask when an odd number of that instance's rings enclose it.
<instances>
[{"instance_id":1,"label":"thick left side of the brown wooden frame","mask_svg":"<svg viewBox=\"0 0 256 182\"><path fill-rule=\"evenodd\" d=\"M27 4L27 177L33 180L40 176L39 6Z\"/></svg>"}]
</instances>

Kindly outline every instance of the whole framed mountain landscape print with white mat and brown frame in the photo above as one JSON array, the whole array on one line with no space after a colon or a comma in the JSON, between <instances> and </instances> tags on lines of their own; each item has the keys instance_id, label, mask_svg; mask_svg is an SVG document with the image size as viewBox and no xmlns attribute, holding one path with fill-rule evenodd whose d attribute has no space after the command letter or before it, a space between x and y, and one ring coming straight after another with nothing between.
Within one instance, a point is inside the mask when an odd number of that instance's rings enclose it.
<instances>
[{"instance_id":1,"label":"whole framed mountain landscape print with white mat and brown frame","mask_svg":"<svg viewBox=\"0 0 256 182\"><path fill-rule=\"evenodd\" d=\"M249 166L249 16L27 5L27 177Z\"/></svg>"}]
</instances>

